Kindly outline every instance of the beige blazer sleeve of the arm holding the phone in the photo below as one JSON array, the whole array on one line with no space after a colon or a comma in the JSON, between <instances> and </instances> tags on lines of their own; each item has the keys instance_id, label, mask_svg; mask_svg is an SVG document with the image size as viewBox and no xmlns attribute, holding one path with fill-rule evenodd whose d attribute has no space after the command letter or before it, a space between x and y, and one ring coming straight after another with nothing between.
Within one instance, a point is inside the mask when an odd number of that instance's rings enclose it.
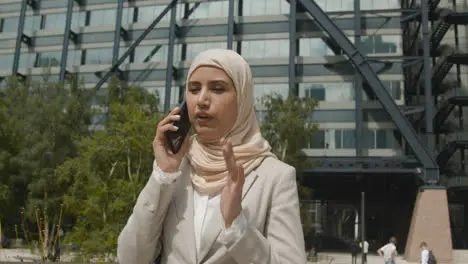
<instances>
[{"instance_id":1,"label":"beige blazer sleeve of the arm holding the phone","mask_svg":"<svg viewBox=\"0 0 468 264\"><path fill-rule=\"evenodd\" d=\"M119 264L151 264L161 252L164 219L172 201L175 183L164 184L155 164L140 192L133 213L117 241Z\"/></svg>"}]
</instances>

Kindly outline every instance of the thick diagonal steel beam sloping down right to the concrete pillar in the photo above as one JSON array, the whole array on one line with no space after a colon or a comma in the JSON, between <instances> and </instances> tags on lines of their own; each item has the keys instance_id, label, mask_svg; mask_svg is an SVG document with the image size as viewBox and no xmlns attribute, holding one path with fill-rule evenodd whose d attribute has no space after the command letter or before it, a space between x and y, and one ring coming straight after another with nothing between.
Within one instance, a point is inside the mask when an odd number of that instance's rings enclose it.
<instances>
[{"instance_id":1,"label":"thick diagonal steel beam sloping down right to the concrete pillar","mask_svg":"<svg viewBox=\"0 0 468 264\"><path fill-rule=\"evenodd\" d=\"M299 1L306 11L315 19L317 24L319 24L331 38L340 44L344 53L349 57L354 67L359 71L363 79L367 81L377 99L382 104L382 107L390 115L408 145L423 164L423 179L430 183L437 183L439 181L439 169L434 157L418 137L408 119L398 109L398 106L395 104L394 100L391 98L387 89L385 89L385 86L382 84L364 55L356 49L353 43L349 41L346 35L338 28L322 8L315 3L315 1Z\"/></svg>"}]
</instances>

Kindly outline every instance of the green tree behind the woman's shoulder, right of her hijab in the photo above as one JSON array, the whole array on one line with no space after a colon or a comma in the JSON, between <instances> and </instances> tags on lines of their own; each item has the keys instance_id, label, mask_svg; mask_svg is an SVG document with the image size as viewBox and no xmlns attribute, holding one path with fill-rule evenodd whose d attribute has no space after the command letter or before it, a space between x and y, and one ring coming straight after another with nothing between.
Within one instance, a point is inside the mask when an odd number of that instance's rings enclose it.
<instances>
[{"instance_id":1,"label":"green tree behind the woman's shoulder, right of her hijab","mask_svg":"<svg viewBox=\"0 0 468 264\"><path fill-rule=\"evenodd\" d=\"M307 148L313 139L317 125L307 122L317 102L311 98L289 96L283 98L273 94L263 98L264 109L261 112L262 133L270 142L277 157L296 168L298 176L299 198L310 200L312 190L300 184L302 171L312 166L302 149ZM312 228L312 220L307 212L307 204L301 203L301 218L304 233Z\"/></svg>"}]
</instances>

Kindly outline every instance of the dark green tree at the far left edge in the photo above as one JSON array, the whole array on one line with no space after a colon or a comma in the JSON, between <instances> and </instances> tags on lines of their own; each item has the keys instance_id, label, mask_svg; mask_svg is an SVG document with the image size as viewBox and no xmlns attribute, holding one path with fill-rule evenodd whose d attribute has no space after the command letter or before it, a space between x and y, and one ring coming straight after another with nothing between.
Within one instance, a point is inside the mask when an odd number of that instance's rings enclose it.
<instances>
[{"instance_id":1,"label":"dark green tree at the far left edge","mask_svg":"<svg viewBox=\"0 0 468 264\"><path fill-rule=\"evenodd\" d=\"M88 133L89 92L72 76L65 83L11 78L0 98L0 195L9 227L20 208L45 247L54 232L64 186L55 167L76 156L75 139ZM3 184L3 185L2 185ZM1 198L0 198L1 199ZM37 217L36 217L37 216ZM36 220L39 220L38 226Z\"/></svg>"}]
</instances>

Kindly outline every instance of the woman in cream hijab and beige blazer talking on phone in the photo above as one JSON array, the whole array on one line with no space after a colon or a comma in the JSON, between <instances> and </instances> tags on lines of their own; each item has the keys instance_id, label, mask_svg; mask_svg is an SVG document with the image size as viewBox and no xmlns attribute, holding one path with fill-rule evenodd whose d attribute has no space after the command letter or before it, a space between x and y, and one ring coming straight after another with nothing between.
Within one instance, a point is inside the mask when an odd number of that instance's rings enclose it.
<instances>
[{"instance_id":1,"label":"woman in cream hijab and beige blazer talking on phone","mask_svg":"<svg viewBox=\"0 0 468 264\"><path fill-rule=\"evenodd\" d=\"M195 135L171 153L158 124L153 173L118 239L120 264L305 263L295 169L260 134L247 62L230 50L199 54L185 98Z\"/></svg>"}]
</instances>

